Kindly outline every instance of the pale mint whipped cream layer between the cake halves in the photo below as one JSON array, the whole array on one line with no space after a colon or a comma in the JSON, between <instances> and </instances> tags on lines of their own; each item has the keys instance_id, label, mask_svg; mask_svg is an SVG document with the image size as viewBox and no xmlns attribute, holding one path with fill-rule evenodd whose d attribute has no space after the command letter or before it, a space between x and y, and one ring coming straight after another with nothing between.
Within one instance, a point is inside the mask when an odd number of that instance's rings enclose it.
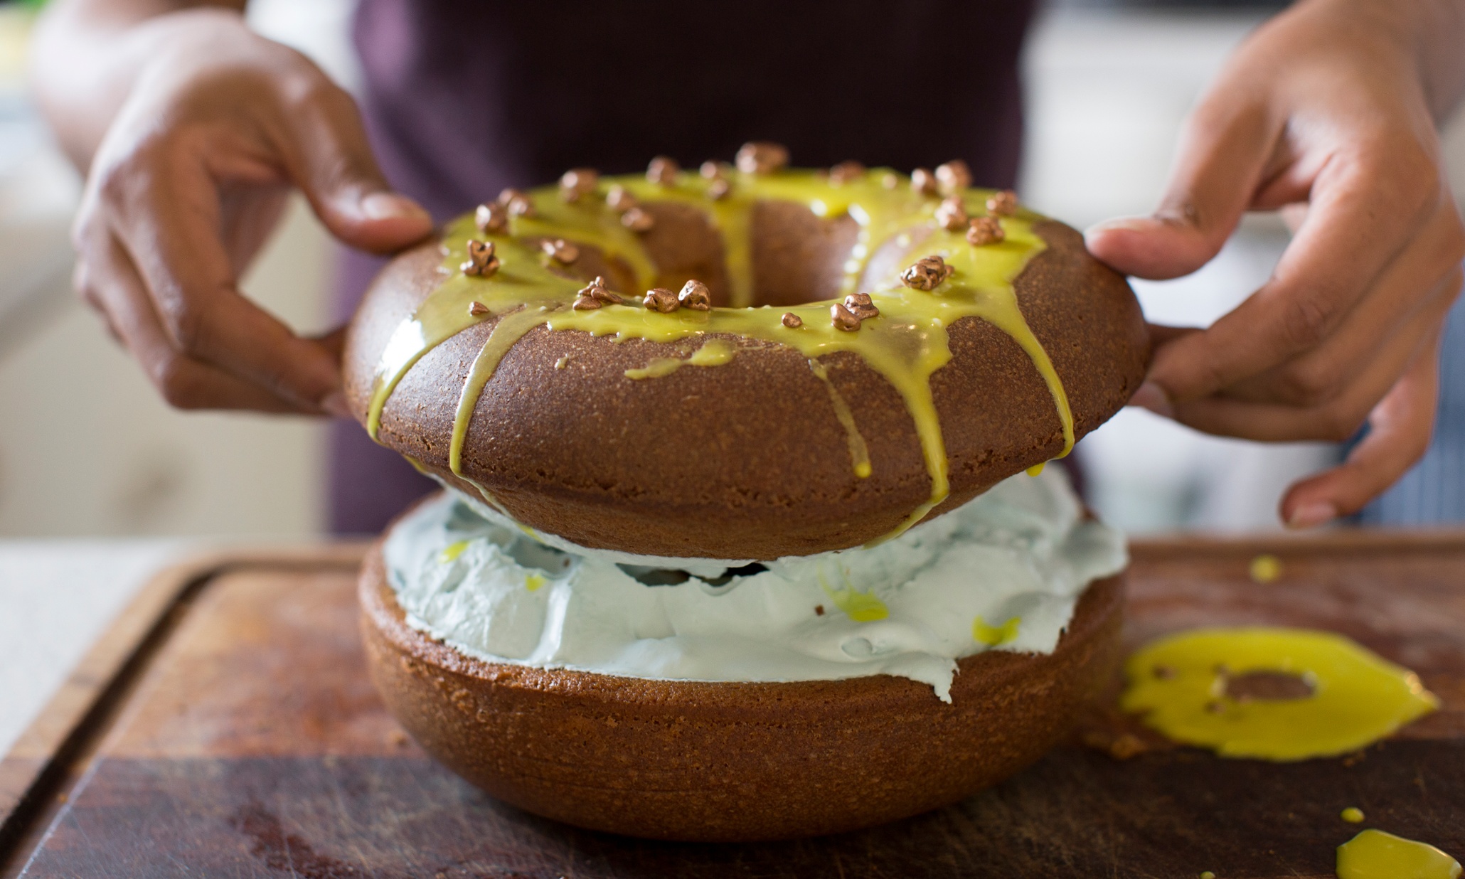
<instances>
[{"instance_id":1,"label":"pale mint whipped cream layer between the cake halves","mask_svg":"<svg viewBox=\"0 0 1465 879\"><path fill-rule=\"evenodd\" d=\"M489 662L639 678L895 674L951 702L957 659L1052 652L1084 587L1128 563L1058 467L870 548L747 564L542 539L448 491L388 535L407 623Z\"/></svg>"}]
</instances>

